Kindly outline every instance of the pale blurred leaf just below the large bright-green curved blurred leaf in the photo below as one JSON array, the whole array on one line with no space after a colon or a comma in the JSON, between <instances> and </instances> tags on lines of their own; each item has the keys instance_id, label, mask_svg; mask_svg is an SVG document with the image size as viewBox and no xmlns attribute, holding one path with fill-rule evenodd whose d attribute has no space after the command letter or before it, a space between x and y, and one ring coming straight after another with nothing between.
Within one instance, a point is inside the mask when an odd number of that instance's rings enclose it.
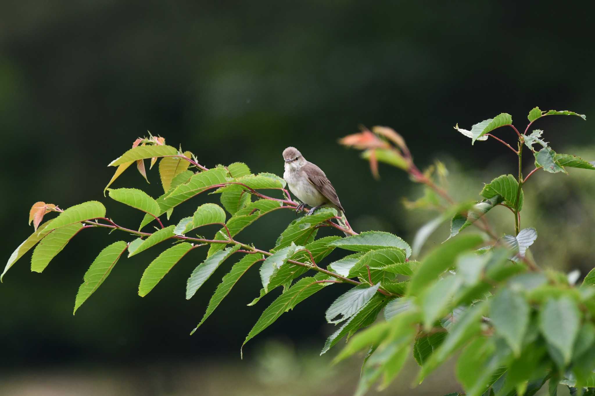
<instances>
[{"instance_id":1,"label":"pale blurred leaf just below the large bright-green curved blurred leaf","mask_svg":"<svg viewBox=\"0 0 595 396\"><path fill-rule=\"evenodd\" d=\"M446 315L449 311L447 308L452 304L452 296L461 287L461 283L461 277L450 275L440 279L419 295L418 305L423 313L425 331L430 331L434 322Z\"/></svg>"}]
</instances>

